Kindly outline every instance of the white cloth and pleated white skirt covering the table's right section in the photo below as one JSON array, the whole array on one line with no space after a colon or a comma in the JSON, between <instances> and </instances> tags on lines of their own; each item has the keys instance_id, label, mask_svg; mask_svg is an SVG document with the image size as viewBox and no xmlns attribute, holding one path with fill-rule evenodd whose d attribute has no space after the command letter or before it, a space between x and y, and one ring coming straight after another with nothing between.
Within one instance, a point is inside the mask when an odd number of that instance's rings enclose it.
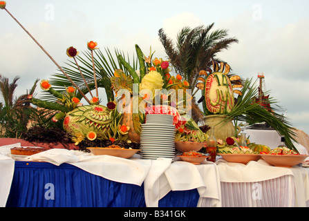
<instances>
[{"instance_id":1,"label":"white cloth and pleated white skirt covering the table's right section","mask_svg":"<svg viewBox=\"0 0 309 221\"><path fill-rule=\"evenodd\" d=\"M264 160L237 164L216 162L221 180L222 206L306 206L309 169L270 166Z\"/></svg>"}]
</instances>

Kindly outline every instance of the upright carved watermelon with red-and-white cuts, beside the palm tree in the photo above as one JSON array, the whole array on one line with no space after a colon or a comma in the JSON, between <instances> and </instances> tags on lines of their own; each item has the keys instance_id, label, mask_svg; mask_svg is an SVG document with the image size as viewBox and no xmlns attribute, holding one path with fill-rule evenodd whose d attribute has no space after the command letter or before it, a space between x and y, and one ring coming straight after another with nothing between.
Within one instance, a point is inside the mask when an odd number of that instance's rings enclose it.
<instances>
[{"instance_id":1,"label":"upright carved watermelon with red-and-white cuts, beside the palm tree","mask_svg":"<svg viewBox=\"0 0 309 221\"><path fill-rule=\"evenodd\" d=\"M202 81L196 85L203 90L203 108L206 113L225 114L230 113L234 108L234 91L232 83L227 76L230 72L230 66L223 64L218 66L213 61L214 72L210 68L207 71L200 71L198 80ZM205 76L202 77L202 76Z\"/></svg>"}]
</instances>

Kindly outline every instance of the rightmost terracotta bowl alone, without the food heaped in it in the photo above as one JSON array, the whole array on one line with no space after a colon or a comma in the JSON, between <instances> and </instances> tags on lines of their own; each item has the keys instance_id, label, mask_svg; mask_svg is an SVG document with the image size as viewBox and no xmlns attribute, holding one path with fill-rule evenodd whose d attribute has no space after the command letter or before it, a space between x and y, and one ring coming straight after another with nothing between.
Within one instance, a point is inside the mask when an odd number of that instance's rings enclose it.
<instances>
[{"instance_id":1,"label":"rightmost terracotta bowl alone, without the food heaped in it","mask_svg":"<svg viewBox=\"0 0 309 221\"><path fill-rule=\"evenodd\" d=\"M262 154L262 159L272 166L292 167L300 164L308 155L270 155Z\"/></svg>"}]
</instances>

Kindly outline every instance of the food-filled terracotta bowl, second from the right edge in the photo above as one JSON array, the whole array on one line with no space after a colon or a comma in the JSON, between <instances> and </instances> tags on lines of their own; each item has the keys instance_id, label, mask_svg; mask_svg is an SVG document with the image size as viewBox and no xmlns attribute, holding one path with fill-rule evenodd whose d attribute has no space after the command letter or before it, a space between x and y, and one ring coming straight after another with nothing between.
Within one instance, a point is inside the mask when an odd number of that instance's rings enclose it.
<instances>
[{"instance_id":1,"label":"food-filled terracotta bowl, second from the right edge","mask_svg":"<svg viewBox=\"0 0 309 221\"><path fill-rule=\"evenodd\" d=\"M222 153L218 153L218 155L221 155L227 162L242 164L247 164L250 161L257 161L261 158L261 155L252 151L252 149L247 146L236 146L230 149L230 151L223 151Z\"/></svg>"}]
</instances>

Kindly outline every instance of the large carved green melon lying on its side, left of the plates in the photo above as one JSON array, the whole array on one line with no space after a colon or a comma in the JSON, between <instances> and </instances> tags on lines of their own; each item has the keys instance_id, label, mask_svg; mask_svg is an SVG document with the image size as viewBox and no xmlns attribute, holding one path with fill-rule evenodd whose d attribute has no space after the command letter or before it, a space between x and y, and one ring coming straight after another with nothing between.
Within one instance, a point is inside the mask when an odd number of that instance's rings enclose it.
<instances>
[{"instance_id":1,"label":"large carved green melon lying on its side, left of the plates","mask_svg":"<svg viewBox=\"0 0 309 221\"><path fill-rule=\"evenodd\" d=\"M112 111L102 105L79 106L66 114L64 130L81 142L87 133L93 131L97 138L109 139L110 124L114 117Z\"/></svg>"}]
</instances>

